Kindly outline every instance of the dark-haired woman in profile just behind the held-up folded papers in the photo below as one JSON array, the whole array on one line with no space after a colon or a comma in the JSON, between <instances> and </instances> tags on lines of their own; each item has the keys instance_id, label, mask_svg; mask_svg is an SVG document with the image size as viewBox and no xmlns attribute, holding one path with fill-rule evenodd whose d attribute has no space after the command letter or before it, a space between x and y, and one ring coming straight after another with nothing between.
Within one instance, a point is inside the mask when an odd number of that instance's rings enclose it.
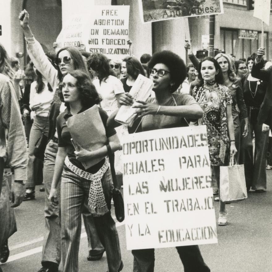
<instances>
[{"instance_id":1,"label":"dark-haired woman in profile just behind the held-up folded papers","mask_svg":"<svg viewBox=\"0 0 272 272\"><path fill-rule=\"evenodd\" d=\"M139 74L146 76L141 62L135 57L125 57L122 62L121 73L125 92L129 92Z\"/></svg>"}]
</instances>

